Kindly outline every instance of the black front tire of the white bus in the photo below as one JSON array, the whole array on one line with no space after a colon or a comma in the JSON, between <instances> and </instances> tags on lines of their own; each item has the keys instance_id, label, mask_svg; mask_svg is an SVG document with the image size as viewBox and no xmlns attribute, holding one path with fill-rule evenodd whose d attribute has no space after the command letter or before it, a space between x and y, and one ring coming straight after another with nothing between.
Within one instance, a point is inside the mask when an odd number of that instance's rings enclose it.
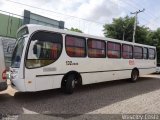
<instances>
[{"instance_id":1,"label":"black front tire of the white bus","mask_svg":"<svg viewBox=\"0 0 160 120\"><path fill-rule=\"evenodd\" d=\"M72 94L76 85L76 77L74 74L68 75L65 85L65 93Z\"/></svg>"}]
</instances>

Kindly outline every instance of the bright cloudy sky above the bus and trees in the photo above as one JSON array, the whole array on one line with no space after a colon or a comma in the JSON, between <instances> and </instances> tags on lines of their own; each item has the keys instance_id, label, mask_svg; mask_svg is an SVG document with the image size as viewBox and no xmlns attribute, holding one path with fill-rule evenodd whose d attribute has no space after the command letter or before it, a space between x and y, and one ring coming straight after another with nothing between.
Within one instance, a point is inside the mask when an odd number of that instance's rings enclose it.
<instances>
[{"instance_id":1,"label":"bright cloudy sky above the bus and trees","mask_svg":"<svg viewBox=\"0 0 160 120\"><path fill-rule=\"evenodd\" d=\"M19 4L22 3L22 4ZM28 5L28 6L26 6ZM104 36L103 25L113 18L138 14L138 24L152 30L160 27L160 0L0 0L0 10L22 15L24 9L56 20L66 28L78 28L86 34Z\"/></svg>"}]
</instances>

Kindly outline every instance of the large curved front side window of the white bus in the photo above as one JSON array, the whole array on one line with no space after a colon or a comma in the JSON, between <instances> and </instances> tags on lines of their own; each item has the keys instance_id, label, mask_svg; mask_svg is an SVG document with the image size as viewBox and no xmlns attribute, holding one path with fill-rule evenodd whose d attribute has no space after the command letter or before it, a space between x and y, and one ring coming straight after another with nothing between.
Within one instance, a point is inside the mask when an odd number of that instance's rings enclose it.
<instances>
[{"instance_id":1,"label":"large curved front side window of the white bus","mask_svg":"<svg viewBox=\"0 0 160 120\"><path fill-rule=\"evenodd\" d=\"M56 61L62 51L62 36L56 33L37 32L31 37L26 67L36 68Z\"/></svg>"}]
</instances>

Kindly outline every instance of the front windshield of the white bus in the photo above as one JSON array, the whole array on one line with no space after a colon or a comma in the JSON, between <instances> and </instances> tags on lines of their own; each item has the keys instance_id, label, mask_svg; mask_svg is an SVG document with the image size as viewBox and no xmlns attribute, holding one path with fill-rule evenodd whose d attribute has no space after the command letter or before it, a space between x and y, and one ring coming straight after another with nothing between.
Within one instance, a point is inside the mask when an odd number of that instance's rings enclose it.
<instances>
[{"instance_id":1,"label":"front windshield of the white bus","mask_svg":"<svg viewBox=\"0 0 160 120\"><path fill-rule=\"evenodd\" d=\"M19 68L20 67L22 52L23 52L23 48L24 48L24 41L25 41L24 39L25 39L25 37L19 38L19 40L14 48L12 59L11 59L11 67L12 68Z\"/></svg>"}]
</instances>

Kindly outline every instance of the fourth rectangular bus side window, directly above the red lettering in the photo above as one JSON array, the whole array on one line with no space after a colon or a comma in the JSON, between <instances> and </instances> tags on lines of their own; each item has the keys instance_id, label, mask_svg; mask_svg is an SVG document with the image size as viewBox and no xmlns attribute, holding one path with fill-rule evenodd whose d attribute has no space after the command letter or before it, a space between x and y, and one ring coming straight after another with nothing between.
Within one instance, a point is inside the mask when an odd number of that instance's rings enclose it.
<instances>
[{"instance_id":1,"label":"fourth rectangular bus side window, directly above the red lettering","mask_svg":"<svg viewBox=\"0 0 160 120\"><path fill-rule=\"evenodd\" d=\"M133 59L133 47L131 45L122 45L122 57L124 59Z\"/></svg>"}]
</instances>

